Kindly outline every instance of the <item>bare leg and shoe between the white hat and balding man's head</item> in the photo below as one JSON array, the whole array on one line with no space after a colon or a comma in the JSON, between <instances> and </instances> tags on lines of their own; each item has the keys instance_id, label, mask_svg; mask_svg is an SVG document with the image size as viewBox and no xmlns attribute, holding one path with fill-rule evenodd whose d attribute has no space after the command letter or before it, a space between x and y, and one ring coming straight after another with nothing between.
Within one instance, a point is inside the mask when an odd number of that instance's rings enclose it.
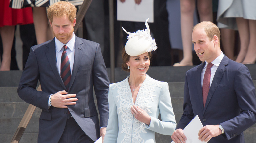
<instances>
[{"instance_id":1,"label":"bare leg and shoe between the white hat and balding man's head","mask_svg":"<svg viewBox=\"0 0 256 143\"><path fill-rule=\"evenodd\" d=\"M190 66L192 63L192 28L195 10L194 0L181 0L181 38L183 45L183 59L173 66Z\"/></svg>"}]
</instances>

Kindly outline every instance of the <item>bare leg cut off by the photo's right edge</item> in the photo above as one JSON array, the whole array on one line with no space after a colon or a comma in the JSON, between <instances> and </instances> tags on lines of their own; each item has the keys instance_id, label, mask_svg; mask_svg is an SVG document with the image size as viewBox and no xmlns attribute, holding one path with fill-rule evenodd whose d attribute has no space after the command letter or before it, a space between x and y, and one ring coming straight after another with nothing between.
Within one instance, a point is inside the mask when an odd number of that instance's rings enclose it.
<instances>
[{"instance_id":1,"label":"bare leg cut off by the photo's right edge","mask_svg":"<svg viewBox=\"0 0 256 143\"><path fill-rule=\"evenodd\" d=\"M250 32L250 40L248 51L245 56L245 60L243 63L245 64L254 64L256 61L256 20L248 20L249 21L249 32Z\"/></svg>"}]
</instances>

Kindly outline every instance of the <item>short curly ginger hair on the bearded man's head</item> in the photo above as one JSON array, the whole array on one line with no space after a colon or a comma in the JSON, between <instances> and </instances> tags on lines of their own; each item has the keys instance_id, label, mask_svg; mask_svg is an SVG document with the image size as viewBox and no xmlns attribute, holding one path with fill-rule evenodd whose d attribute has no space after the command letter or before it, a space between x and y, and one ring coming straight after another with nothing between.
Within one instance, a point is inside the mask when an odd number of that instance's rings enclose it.
<instances>
[{"instance_id":1,"label":"short curly ginger hair on the bearded man's head","mask_svg":"<svg viewBox=\"0 0 256 143\"><path fill-rule=\"evenodd\" d=\"M66 15L73 23L73 20L76 17L76 10L76 7L70 2L59 1L48 7L47 17L52 23L53 16L60 18Z\"/></svg>"}]
</instances>

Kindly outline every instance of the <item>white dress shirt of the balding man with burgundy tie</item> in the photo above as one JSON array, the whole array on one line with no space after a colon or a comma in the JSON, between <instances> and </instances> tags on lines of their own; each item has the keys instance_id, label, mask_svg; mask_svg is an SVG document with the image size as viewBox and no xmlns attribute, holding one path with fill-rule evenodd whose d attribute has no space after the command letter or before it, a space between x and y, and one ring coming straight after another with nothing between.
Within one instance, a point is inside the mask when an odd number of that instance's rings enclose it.
<instances>
[{"instance_id":1,"label":"white dress shirt of the balding man with burgundy tie","mask_svg":"<svg viewBox=\"0 0 256 143\"><path fill-rule=\"evenodd\" d=\"M224 54L222 53L221 51L221 55L218 56L215 60L212 61L212 64L213 66L211 67L211 79L210 79L210 87L211 87L211 84L212 84L212 80L213 80L213 77L215 75L215 72L217 70L217 68L219 67L220 63L221 63L221 60L223 59L224 57ZM205 65L204 65L204 68L202 69L201 71L201 87L203 87L203 78L204 78L204 73L206 71L206 67L208 65L208 62L205 61Z\"/></svg>"}]
</instances>

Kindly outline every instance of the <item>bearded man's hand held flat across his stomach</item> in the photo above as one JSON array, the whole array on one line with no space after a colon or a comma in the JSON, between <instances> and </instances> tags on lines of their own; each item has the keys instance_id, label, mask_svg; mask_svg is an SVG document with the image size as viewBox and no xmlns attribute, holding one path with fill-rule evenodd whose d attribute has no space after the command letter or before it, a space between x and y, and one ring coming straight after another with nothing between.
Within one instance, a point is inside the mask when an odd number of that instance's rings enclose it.
<instances>
[{"instance_id":1,"label":"bearded man's hand held flat across his stomach","mask_svg":"<svg viewBox=\"0 0 256 143\"><path fill-rule=\"evenodd\" d=\"M62 90L51 96L51 105L56 108L68 108L67 105L75 105L78 99L72 98L76 94L68 94L67 91Z\"/></svg>"}]
</instances>

